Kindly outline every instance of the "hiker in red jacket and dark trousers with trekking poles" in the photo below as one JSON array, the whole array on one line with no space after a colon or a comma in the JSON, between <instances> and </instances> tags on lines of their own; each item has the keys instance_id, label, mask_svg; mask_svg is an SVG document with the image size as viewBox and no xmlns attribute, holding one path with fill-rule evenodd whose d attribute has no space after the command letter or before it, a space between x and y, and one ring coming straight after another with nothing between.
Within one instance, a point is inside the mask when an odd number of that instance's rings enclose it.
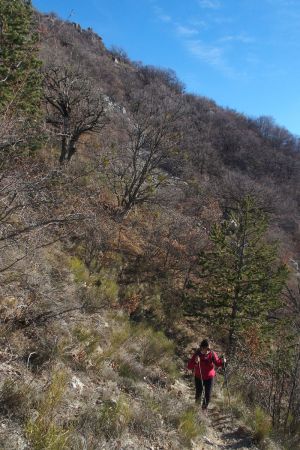
<instances>
[{"instance_id":1,"label":"hiker in red jacket and dark trousers with trekking poles","mask_svg":"<svg viewBox=\"0 0 300 450\"><path fill-rule=\"evenodd\" d=\"M199 349L193 354L188 362L187 368L193 370L195 375L196 403L201 402L204 389L202 409L207 409L213 386L213 379L216 376L215 366L222 367L226 359L219 358L218 355L209 348L207 339L203 339Z\"/></svg>"}]
</instances>

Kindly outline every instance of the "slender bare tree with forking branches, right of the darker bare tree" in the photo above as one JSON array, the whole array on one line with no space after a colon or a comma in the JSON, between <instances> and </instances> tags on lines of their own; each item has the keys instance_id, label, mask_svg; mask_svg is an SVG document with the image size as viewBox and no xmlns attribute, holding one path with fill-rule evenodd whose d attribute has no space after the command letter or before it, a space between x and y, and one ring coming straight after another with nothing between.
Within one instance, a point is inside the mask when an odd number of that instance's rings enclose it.
<instances>
[{"instance_id":1,"label":"slender bare tree with forking branches, right of the darker bare tree","mask_svg":"<svg viewBox=\"0 0 300 450\"><path fill-rule=\"evenodd\" d=\"M166 86L149 85L134 92L131 118L124 117L124 138L110 149L108 177L122 214L147 202L165 181L163 162L178 150L181 133L177 127L183 113L180 96Z\"/></svg>"}]
</instances>

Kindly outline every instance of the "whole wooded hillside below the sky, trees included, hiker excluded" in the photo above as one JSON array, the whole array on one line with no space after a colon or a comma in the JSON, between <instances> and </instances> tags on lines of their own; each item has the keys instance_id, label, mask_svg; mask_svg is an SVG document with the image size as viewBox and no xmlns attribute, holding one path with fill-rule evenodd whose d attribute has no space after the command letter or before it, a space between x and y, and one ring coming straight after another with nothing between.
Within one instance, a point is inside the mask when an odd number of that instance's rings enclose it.
<instances>
[{"instance_id":1,"label":"whole wooded hillside below the sky, trees included, hiker excluded","mask_svg":"<svg viewBox=\"0 0 300 450\"><path fill-rule=\"evenodd\" d=\"M0 121L0 448L300 448L299 137L23 0Z\"/></svg>"}]
</instances>

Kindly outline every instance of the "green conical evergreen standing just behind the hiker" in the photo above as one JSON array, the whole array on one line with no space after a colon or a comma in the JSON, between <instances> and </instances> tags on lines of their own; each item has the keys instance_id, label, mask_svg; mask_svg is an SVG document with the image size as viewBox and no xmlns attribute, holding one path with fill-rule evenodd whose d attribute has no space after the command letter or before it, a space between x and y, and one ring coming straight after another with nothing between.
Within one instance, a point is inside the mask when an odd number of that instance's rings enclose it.
<instances>
[{"instance_id":1,"label":"green conical evergreen standing just behind the hiker","mask_svg":"<svg viewBox=\"0 0 300 450\"><path fill-rule=\"evenodd\" d=\"M287 269L277 261L276 244L267 243L267 216L247 196L216 224L211 249L199 256L199 287L190 312L209 317L228 331L233 355L243 331L266 325L280 304Z\"/></svg>"}]
</instances>

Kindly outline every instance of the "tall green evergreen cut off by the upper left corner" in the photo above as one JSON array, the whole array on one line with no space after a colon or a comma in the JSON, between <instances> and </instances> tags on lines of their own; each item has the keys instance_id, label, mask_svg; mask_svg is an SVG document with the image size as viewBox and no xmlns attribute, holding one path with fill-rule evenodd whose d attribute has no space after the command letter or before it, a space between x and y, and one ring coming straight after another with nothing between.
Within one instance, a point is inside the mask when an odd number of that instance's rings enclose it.
<instances>
[{"instance_id":1,"label":"tall green evergreen cut off by the upper left corner","mask_svg":"<svg viewBox=\"0 0 300 450\"><path fill-rule=\"evenodd\" d=\"M34 116L41 96L40 62L37 58L30 1L0 0L0 113Z\"/></svg>"}]
</instances>

